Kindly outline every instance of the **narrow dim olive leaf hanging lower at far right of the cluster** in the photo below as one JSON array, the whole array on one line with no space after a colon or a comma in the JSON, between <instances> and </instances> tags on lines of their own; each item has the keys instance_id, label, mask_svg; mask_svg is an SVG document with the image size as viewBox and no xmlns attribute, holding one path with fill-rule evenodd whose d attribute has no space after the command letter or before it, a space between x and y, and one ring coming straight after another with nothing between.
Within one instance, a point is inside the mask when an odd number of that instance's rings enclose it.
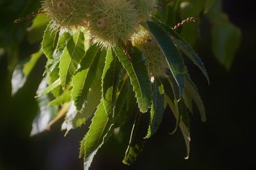
<instances>
[{"instance_id":1,"label":"narrow dim olive leaf hanging lower at far right of the cluster","mask_svg":"<svg viewBox=\"0 0 256 170\"><path fill-rule=\"evenodd\" d=\"M195 87L193 81L191 81L187 76L185 78L185 89L188 91L189 95L192 97L193 101L200 112L202 122L206 121L204 104L201 97L198 94L198 90Z\"/></svg>"}]
</instances>

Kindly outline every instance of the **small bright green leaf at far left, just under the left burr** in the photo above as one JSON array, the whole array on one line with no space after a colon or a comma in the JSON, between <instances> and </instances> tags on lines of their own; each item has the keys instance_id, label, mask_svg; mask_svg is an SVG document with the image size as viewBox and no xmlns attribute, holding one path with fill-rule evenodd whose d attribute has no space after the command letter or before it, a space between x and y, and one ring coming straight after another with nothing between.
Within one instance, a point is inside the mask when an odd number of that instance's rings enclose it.
<instances>
[{"instance_id":1,"label":"small bright green leaf at far left, just under the left burr","mask_svg":"<svg viewBox=\"0 0 256 170\"><path fill-rule=\"evenodd\" d=\"M52 54L56 48L56 43L58 41L59 32L52 31L52 25L49 23L44 32L44 38L42 41L42 48L44 50L44 54L48 59L52 59Z\"/></svg>"}]
</instances>

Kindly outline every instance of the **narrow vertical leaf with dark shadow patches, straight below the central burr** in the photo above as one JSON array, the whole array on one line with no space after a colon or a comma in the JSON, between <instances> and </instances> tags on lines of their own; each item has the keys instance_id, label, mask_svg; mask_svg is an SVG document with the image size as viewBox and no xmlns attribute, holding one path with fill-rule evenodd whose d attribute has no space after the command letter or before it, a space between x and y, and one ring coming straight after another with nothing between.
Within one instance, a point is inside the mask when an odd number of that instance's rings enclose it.
<instances>
[{"instance_id":1,"label":"narrow vertical leaf with dark shadow patches, straight below the central burr","mask_svg":"<svg viewBox=\"0 0 256 170\"><path fill-rule=\"evenodd\" d=\"M113 116L116 103L116 92L120 82L120 62L112 49L109 48L102 74L102 100L109 117Z\"/></svg>"}]
</instances>

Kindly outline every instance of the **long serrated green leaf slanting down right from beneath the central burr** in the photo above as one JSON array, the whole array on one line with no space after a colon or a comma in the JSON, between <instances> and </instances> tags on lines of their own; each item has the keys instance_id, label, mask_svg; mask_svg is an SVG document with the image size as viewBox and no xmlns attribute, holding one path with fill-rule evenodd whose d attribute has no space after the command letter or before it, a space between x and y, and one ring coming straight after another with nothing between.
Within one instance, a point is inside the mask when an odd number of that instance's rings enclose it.
<instances>
[{"instance_id":1,"label":"long serrated green leaf slanting down right from beneath the central burr","mask_svg":"<svg viewBox=\"0 0 256 170\"><path fill-rule=\"evenodd\" d=\"M129 60L120 47L115 48L115 53L129 74L140 111L142 113L147 112L150 106L151 87L145 66L145 57L137 48L133 48L132 52L129 53L132 61Z\"/></svg>"}]
</instances>

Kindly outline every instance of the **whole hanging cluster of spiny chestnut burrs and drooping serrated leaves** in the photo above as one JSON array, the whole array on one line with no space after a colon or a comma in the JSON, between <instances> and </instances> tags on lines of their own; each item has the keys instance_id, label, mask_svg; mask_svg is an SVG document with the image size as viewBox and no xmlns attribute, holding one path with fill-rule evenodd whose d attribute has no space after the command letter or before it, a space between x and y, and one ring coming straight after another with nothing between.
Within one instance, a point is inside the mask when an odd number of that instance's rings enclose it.
<instances>
[{"instance_id":1,"label":"whole hanging cluster of spiny chestnut burrs and drooping serrated leaves","mask_svg":"<svg viewBox=\"0 0 256 170\"><path fill-rule=\"evenodd\" d=\"M90 123L80 148L84 169L88 169L115 129L133 117L123 160L124 164L132 164L143 143L157 132L164 110L169 107L175 117L175 131L180 128L184 135L189 156L189 113L193 112L193 102L203 122L206 118L184 58L191 60L208 82L209 77L192 46L166 24L168 20L161 13L168 3L44 0L41 12L49 22L42 48L34 56L47 57L36 99L45 106L48 117L47 124L38 124L46 114L41 110L31 134L44 131L63 116L62 129L67 132ZM172 4L175 6L177 1ZM191 20L195 21L187 21ZM148 127L140 137L137 131L143 114L148 115Z\"/></svg>"}]
</instances>

